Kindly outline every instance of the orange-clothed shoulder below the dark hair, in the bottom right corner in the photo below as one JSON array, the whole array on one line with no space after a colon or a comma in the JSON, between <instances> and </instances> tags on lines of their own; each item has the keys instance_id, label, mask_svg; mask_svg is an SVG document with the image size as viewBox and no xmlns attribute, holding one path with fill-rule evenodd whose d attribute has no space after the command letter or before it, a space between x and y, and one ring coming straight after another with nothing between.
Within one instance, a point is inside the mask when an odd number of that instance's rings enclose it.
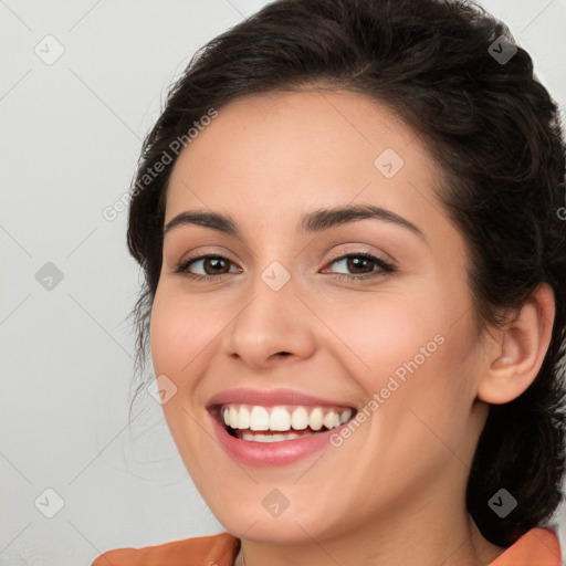
<instances>
[{"instance_id":1,"label":"orange-clothed shoulder below the dark hair, in the bottom right corner","mask_svg":"<svg viewBox=\"0 0 566 566\"><path fill-rule=\"evenodd\" d=\"M490 566L560 566L560 545L554 531L532 528Z\"/></svg>"}]
</instances>

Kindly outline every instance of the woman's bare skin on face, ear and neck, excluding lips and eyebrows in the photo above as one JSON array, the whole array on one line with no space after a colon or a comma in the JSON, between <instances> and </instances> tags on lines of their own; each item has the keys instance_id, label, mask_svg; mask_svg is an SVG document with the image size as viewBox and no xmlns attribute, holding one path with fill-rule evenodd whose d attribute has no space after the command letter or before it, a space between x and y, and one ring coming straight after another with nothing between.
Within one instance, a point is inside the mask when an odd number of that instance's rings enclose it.
<instances>
[{"instance_id":1,"label":"woman's bare skin on face, ear and neck, excluding lips and eyebrows","mask_svg":"<svg viewBox=\"0 0 566 566\"><path fill-rule=\"evenodd\" d=\"M385 148L405 161L390 179L374 165ZM468 515L465 484L485 401L506 402L536 376L554 303L543 286L504 329L476 332L465 242L436 197L440 180L400 118L339 91L240 98L179 156L165 223L213 210L237 222L243 241L195 224L166 234L151 355L156 375L177 387L164 411L181 458L242 539L235 564L243 554L247 566L476 566L503 552ZM295 229L314 209L357 203L395 212L422 238L375 219ZM333 253L359 251L396 271L332 263ZM226 256L226 274L175 273L197 253ZM291 275L280 291L261 279L273 261ZM202 261L190 269L219 272ZM336 279L369 272L378 274ZM359 409L438 334L444 343L339 448L258 468L217 442L205 407L218 391L282 386ZM290 502L277 517L262 505L274 489Z\"/></svg>"}]
</instances>

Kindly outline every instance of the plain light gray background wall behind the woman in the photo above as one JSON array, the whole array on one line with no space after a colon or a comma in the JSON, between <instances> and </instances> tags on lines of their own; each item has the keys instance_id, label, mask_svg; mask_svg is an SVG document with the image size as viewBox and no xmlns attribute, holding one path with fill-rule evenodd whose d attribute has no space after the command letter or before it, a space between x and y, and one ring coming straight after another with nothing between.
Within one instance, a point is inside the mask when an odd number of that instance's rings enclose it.
<instances>
[{"instance_id":1,"label":"plain light gray background wall behind the woman","mask_svg":"<svg viewBox=\"0 0 566 566\"><path fill-rule=\"evenodd\" d=\"M126 212L111 222L102 210L127 191L142 139L190 55L265 3L0 0L1 565L90 565L108 548L222 531L160 406L146 396L128 426L125 317L138 270ZM566 0L483 6L566 107ZM64 48L53 64L34 52L56 54L49 34ZM48 262L63 274L51 291L35 279ZM56 510L48 488L64 500L53 518L34 505ZM566 548L564 507L559 516Z\"/></svg>"}]
</instances>

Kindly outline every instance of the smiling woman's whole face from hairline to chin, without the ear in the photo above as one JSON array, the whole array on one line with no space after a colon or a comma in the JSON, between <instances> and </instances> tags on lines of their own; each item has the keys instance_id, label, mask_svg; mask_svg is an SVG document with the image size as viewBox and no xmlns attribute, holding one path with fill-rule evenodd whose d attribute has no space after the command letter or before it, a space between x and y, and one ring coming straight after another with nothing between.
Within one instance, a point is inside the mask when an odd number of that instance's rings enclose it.
<instances>
[{"instance_id":1,"label":"smiling woman's whole face from hairline to chin, without the ear","mask_svg":"<svg viewBox=\"0 0 566 566\"><path fill-rule=\"evenodd\" d=\"M482 359L439 182L413 130L347 92L240 98L179 156L151 355L228 531L322 542L462 512Z\"/></svg>"}]
</instances>

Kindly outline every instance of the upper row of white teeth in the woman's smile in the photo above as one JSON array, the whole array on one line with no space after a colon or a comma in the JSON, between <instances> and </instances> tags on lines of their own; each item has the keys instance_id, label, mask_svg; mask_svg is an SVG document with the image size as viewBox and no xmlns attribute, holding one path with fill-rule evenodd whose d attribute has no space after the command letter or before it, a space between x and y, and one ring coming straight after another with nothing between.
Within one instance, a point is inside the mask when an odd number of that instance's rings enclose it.
<instances>
[{"instance_id":1,"label":"upper row of white teeth in the woman's smile","mask_svg":"<svg viewBox=\"0 0 566 566\"><path fill-rule=\"evenodd\" d=\"M222 407L224 423L233 429L304 430L307 427L321 430L323 424L334 429L349 420L352 409L333 409L327 407L262 407L249 405L224 405Z\"/></svg>"}]
</instances>

